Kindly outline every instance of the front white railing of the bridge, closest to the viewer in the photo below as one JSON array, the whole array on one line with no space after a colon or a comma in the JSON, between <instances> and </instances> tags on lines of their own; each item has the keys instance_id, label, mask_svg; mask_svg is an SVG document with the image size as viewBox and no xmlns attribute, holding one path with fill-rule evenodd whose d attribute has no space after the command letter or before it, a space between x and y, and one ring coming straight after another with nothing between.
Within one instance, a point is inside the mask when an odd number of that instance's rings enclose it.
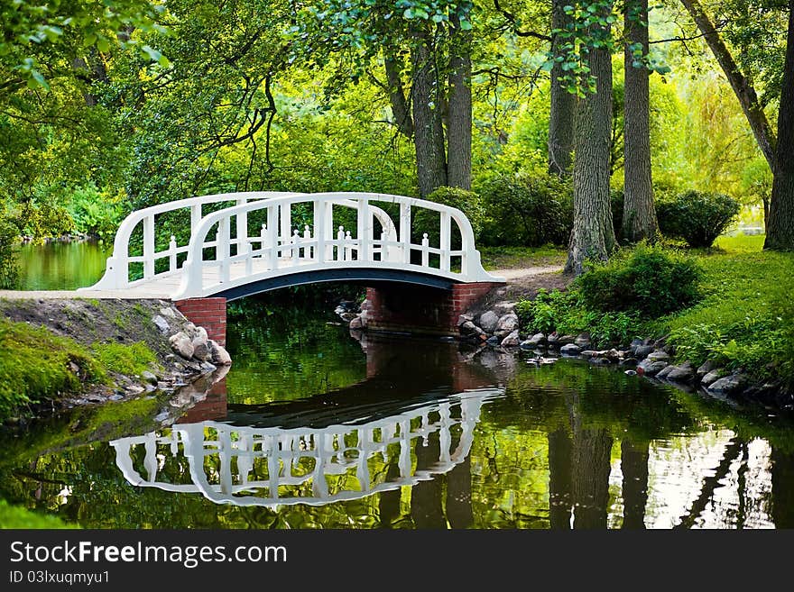
<instances>
[{"instance_id":1,"label":"front white railing of the bridge, closest to the viewer","mask_svg":"<svg viewBox=\"0 0 794 592\"><path fill-rule=\"evenodd\" d=\"M300 204L309 204L312 211L311 224L302 229L291 223L291 209ZM334 205L355 209L355 228L335 223ZM398 223L384 209L390 205L399 212ZM438 243L431 245L427 232L419 242L412 240L411 220L417 210L439 215ZM241 217L247 219L260 211L266 212L266 222L259 236L245 237L246 248L232 253L230 229L245 226L239 222ZM455 249L453 228L460 237L460 247ZM482 267L471 223L463 212L413 197L384 194L293 194L235 205L202 218L187 252L174 298L208 296L258 278L293 273L298 267L307 271L374 266L465 282L496 279Z\"/></svg>"}]
</instances>

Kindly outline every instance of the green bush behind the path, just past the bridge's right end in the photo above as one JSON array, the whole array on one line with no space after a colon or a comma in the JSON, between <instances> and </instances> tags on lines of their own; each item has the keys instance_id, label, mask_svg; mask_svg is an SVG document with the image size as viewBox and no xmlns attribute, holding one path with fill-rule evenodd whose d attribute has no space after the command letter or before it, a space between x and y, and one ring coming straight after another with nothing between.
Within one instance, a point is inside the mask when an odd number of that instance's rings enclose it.
<instances>
[{"instance_id":1,"label":"green bush behind the path, just past the bridge's right end","mask_svg":"<svg viewBox=\"0 0 794 592\"><path fill-rule=\"evenodd\" d=\"M501 175L491 179L481 194L487 215L485 244L568 244L573 228L573 188L569 179L556 175Z\"/></svg>"}]
</instances>

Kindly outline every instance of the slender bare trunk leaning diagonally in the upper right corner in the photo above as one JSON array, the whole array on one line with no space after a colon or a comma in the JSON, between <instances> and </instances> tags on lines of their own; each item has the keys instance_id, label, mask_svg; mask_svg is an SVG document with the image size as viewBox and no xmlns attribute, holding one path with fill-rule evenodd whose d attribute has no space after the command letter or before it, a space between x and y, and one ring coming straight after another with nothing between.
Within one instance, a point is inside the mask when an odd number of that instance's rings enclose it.
<instances>
[{"instance_id":1,"label":"slender bare trunk leaning diagonally in the upper right corner","mask_svg":"<svg viewBox=\"0 0 794 592\"><path fill-rule=\"evenodd\" d=\"M775 170L775 135L771 131L769 121L766 114L763 113L763 108L758 102L758 95L752 83L743 76L742 71L736 65L734 57L725 46L725 43L720 39L719 33L716 32L714 24L708 18L708 15L703 10L698 0L681 0L692 19L697 24L697 28L703 33L703 36L708 43L708 47L714 53L714 57L719 62L720 68L723 68L728 82L734 89L736 98L739 99L739 105L742 105L744 116L750 123L752 134L755 136L755 141L758 142L759 148L763 153L764 158L770 165L772 172ZM790 32L789 32L790 35ZM790 38L790 37L789 37ZM789 44L790 45L790 44Z\"/></svg>"}]
</instances>

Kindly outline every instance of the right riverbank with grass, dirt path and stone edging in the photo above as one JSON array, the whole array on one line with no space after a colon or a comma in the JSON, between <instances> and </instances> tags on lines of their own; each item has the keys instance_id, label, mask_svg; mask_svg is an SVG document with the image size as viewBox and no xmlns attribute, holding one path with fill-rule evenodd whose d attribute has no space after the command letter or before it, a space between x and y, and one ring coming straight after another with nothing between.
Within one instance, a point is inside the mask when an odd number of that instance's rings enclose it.
<instances>
[{"instance_id":1,"label":"right riverbank with grass, dirt path and stone edging","mask_svg":"<svg viewBox=\"0 0 794 592\"><path fill-rule=\"evenodd\" d=\"M586 305L580 286L561 273L562 251L485 253L486 269L507 286L461 316L461 338L530 352L533 360L619 364L685 390L791 409L794 255L762 251L762 244L763 236L739 235L688 251L698 269L693 303L655 316ZM668 278L673 286L677 280ZM651 292L651 304L656 296L670 295Z\"/></svg>"}]
</instances>

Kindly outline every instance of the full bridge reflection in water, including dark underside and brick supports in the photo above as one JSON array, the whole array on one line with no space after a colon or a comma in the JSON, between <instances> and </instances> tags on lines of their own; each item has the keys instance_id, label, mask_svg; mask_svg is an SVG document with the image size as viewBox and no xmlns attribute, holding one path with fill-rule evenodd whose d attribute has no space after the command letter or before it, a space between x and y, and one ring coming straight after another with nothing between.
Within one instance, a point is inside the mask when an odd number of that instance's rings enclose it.
<instances>
[{"instance_id":1,"label":"full bridge reflection in water, including dark underside and brick supports","mask_svg":"<svg viewBox=\"0 0 794 592\"><path fill-rule=\"evenodd\" d=\"M265 405L227 405L221 384L180 423L110 442L116 465L134 486L275 508L413 487L466 461L482 406L503 389L455 349L434 344L436 355L448 354L439 360L444 371L415 373L406 392L405 351L421 356L420 344L365 347L361 383ZM395 373L403 376L399 393L389 392Z\"/></svg>"}]
</instances>

